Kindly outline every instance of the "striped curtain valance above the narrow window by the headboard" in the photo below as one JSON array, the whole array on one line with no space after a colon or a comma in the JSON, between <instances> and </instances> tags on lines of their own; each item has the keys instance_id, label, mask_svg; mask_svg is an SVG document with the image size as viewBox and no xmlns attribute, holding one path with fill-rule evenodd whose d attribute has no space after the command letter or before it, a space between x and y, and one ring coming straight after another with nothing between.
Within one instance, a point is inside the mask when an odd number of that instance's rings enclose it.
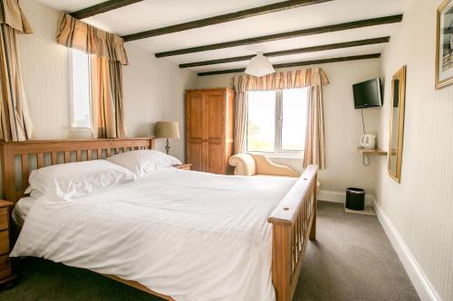
<instances>
[{"instance_id":1,"label":"striped curtain valance above the narrow window by the headboard","mask_svg":"<svg viewBox=\"0 0 453 301\"><path fill-rule=\"evenodd\" d=\"M99 58L120 61L122 65L129 64L124 41L119 35L104 32L69 14L61 17L57 42Z\"/></svg>"}]
</instances>

